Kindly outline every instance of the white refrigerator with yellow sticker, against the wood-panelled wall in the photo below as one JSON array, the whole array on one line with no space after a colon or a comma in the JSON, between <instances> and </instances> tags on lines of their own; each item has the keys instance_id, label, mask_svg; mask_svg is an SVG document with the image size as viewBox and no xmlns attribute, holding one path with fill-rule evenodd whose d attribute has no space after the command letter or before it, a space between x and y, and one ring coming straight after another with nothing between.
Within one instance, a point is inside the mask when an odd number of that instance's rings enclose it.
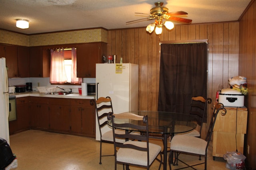
<instances>
[{"instance_id":1,"label":"white refrigerator with yellow sticker, against the wood-panelled wall","mask_svg":"<svg viewBox=\"0 0 256 170\"><path fill-rule=\"evenodd\" d=\"M137 111L138 74L138 64L96 64L96 99L109 96L115 114ZM105 126L102 128L102 133L110 130L110 127ZM100 140L97 117L96 140Z\"/></svg>"}]
</instances>

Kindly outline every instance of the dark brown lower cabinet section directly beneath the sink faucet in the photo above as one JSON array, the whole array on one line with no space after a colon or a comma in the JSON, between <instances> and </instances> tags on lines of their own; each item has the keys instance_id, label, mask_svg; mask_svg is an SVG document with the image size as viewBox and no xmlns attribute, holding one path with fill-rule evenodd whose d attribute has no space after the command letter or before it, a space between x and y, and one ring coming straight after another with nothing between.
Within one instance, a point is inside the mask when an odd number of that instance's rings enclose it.
<instances>
[{"instance_id":1,"label":"dark brown lower cabinet section directly beneath the sink faucet","mask_svg":"<svg viewBox=\"0 0 256 170\"><path fill-rule=\"evenodd\" d=\"M70 131L69 99L49 98L50 130Z\"/></svg>"}]
</instances>

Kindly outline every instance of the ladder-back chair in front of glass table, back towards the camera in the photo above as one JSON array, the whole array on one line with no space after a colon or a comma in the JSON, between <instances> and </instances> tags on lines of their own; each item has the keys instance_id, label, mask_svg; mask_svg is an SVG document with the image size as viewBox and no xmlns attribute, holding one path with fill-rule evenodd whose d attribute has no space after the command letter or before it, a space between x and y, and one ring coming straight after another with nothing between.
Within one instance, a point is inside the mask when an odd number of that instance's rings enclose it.
<instances>
[{"instance_id":1,"label":"ladder-back chair in front of glass table, back towards the camera","mask_svg":"<svg viewBox=\"0 0 256 170\"><path fill-rule=\"evenodd\" d=\"M115 118L118 118L118 123L115 122ZM122 119L123 122L120 120ZM115 148L115 170L116 164L123 164L126 169L129 169L129 165L139 166L149 169L152 162L160 155L161 160L159 170L162 164L161 146L149 143L148 138L148 116L140 116L134 113L121 113L115 114L109 113L108 120L112 121L114 148ZM139 121L135 123L135 121ZM117 129L122 128L126 131L138 131L142 132L142 135L136 135L126 133L120 135L117 133ZM116 138L125 139L125 143L117 143ZM128 139L131 139L128 141Z\"/></svg>"}]
</instances>

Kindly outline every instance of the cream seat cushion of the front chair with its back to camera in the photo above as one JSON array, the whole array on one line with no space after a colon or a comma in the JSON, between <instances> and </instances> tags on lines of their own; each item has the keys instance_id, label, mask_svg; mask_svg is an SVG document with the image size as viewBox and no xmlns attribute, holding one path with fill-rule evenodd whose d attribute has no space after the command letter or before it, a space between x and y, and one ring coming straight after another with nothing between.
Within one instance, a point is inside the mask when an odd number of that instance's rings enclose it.
<instances>
[{"instance_id":1,"label":"cream seat cushion of the front chair with its back to camera","mask_svg":"<svg viewBox=\"0 0 256 170\"><path fill-rule=\"evenodd\" d=\"M127 141L124 143L124 145L125 144L132 144L145 148L147 147L147 143L141 141ZM161 147L159 145L149 143L149 164L152 164L160 151ZM116 160L143 166L148 165L147 152L136 149L120 148L116 153Z\"/></svg>"}]
</instances>

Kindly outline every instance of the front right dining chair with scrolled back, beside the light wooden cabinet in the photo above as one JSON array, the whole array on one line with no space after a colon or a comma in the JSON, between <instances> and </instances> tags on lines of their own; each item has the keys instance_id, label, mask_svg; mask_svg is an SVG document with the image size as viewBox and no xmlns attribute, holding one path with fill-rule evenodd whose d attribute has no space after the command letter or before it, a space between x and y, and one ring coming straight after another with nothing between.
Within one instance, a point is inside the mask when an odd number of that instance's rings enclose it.
<instances>
[{"instance_id":1,"label":"front right dining chair with scrolled back, beside the light wooden cabinet","mask_svg":"<svg viewBox=\"0 0 256 170\"><path fill-rule=\"evenodd\" d=\"M205 140L198 138L198 137L189 136L189 135L175 135L171 141L171 146L170 146L171 152L176 152L176 153L179 152L179 153L184 153L184 154L204 156L205 160L203 163L200 163L200 164L204 164L204 169L206 170L206 168L207 168L207 150L208 150L208 146L210 143L210 138L212 136L212 131L214 128L216 116L218 115L219 111L221 111L221 115L219 115L219 116L226 115L226 109L224 108L223 104L219 103L219 104L215 105L214 111L212 113L212 118L210 121L209 129L208 129L208 133L206 135ZM178 158L176 158L176 159L178 159ZM180 160L180 162L183 162L183 161ZM183 162L183 163L186 164L185 162ZM186 165L187 165L187 167L184 167L184 168L196 166L199 164L195 164L195 165L186 164ZM179 169L184 169L184 168L179 168ZM171 166L170 166L170 169L171 169Z\"/></svg>"}]
</instances>

